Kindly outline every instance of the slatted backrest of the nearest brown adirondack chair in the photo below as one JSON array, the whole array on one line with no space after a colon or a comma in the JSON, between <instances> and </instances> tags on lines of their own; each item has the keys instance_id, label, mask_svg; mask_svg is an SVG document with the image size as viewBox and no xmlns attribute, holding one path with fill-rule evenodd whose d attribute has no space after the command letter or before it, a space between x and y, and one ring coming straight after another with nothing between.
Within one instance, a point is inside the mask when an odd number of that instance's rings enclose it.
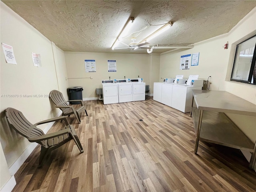
<instances>
[{"instance_id":1,"label":"slatted backrest of the nearest brown adirondack chair","mask_svg":"<svg viewBox=\"0 0 256 192\"><path fill-rule=\"evenodd\" d=\"M44 135L44 132L33 124L31 124L22 114L22 112L14 109L7 108L5 110L6 118L10 126L16 130L19 134L26 137L28 140L30 138L36 138L38 136ZM39 144L46 146L46 141L40 141Z\"/></svg>"}]
</instances>

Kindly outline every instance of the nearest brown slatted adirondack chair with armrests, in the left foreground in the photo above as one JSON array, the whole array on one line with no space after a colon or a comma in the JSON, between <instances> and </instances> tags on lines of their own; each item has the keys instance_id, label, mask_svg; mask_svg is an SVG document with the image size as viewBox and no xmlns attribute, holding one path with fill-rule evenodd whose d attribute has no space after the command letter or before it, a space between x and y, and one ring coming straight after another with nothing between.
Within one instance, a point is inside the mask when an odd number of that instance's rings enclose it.
<instances>
[{"instance_id":1,"label":"nearest brown slatted adirondack chair with armrests, in the left foreground","mask_svg":"<svg viewBox=\"0 0 256 192\"><path fill-rule=\"evenodd\" d=\"M36 142L41 145L38 167L42 166L43 160L48 154L50 154L52 150L62 146L63 144L72 139L76 143L80 152L84 152L80 140L76 135L74 127L69 124L67 118L64 116L44 120L33 125L24 117L22 112L14 108L7 108L5 110L5 114L11 128L13 128L22 136L26 137L30 142ZM44 132L41 129L36 127L37 125L53 122L56 120L65 121L66 126L63 130L50 134L44 134Z\"/></svg>"}]
</instances>

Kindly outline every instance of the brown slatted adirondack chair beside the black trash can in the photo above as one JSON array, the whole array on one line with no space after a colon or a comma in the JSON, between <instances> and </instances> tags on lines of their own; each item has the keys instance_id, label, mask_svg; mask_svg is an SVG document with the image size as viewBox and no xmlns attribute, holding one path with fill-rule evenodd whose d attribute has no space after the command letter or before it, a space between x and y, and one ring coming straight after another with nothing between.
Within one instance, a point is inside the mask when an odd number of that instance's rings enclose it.
<instances>
[{"instance_id":1,"label":"brown slatted adirondack chair beside the black trash can","mask_svg":"<svg viewBox=\"0 0 256 192\"><path fill-rule=\"evenodd\" d=\"M52 102L56 105L57 108L60 108L60 110L62 110L62 116L64 115L70 116L71 114L74 114L76 116L78 123L81 123L80 113L85 111L86 116L88 116L82 100L66 101L62 93L57 90L52 90L50 92L50 100L52 100ZM74 106L68 105L67 102L80 102L81 106L75 109Z\"/></svg>"}]
</instances>

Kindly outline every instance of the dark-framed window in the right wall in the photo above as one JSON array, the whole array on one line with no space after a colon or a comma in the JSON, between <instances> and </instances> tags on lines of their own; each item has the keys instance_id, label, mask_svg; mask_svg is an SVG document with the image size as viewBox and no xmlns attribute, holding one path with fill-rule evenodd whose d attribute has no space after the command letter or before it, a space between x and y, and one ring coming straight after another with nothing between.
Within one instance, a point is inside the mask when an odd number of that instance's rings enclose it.
<instances>
[{"instance_id":1,"label":"dark-framed window in the right wall","mask_svg":"<svg viewBox=\"0 0 256 192\"><path fill-rule=\"evenodd\" d=\"M230 80L256 84L256 35L236 46Z\"/></svg>"}]
</instances>

